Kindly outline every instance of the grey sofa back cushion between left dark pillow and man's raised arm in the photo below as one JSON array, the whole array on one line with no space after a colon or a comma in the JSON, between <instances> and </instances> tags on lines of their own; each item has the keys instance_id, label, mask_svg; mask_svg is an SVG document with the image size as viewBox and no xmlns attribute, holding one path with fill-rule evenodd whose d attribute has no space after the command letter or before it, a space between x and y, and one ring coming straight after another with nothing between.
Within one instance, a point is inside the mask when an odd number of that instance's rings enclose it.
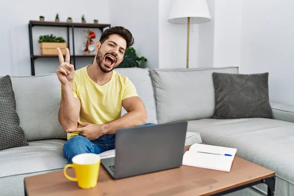
<instances>
[{"instance_id":1,"label":"grey sofa back cushion between left dark pillow and man's raised arm","mask_svg":"<svg viewBox=\"0 0 294 196\"><path fill-rule=\"evenodd\" d=\"M58 122L60 82L57 75L11 77L11 80L25 139L67 138Z\"/></svg>"}]
</instances>

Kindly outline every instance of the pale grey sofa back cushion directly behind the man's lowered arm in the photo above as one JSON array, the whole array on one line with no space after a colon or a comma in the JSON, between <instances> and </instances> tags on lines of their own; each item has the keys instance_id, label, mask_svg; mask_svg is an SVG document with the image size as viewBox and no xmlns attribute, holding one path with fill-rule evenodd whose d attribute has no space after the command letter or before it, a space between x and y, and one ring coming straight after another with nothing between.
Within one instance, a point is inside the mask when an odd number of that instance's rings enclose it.
<instances>
[{"instance_id":1,"label":"pale grey sofa back cushion directly behind the man's lowered arm","mask_svg":"<svg viewBox=\"0 0 294 196\"><path fill-rule=\"evenodd\" d=\"M135 85L137 94L143 100L147 110L147 123L157 123L155 100L148 69L119 68L116 71L127 76ZM122 108L122 116L124 114L126 111Z\"/></svg>"}]
</instances>

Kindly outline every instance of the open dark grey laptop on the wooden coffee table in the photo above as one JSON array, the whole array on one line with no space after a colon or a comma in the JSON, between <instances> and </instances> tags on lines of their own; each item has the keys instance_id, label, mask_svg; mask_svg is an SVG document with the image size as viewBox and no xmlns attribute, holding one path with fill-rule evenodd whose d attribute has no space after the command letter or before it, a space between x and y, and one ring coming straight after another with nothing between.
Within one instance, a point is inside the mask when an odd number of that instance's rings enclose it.
<instances>
[{"instance_id":1,"label":"open dark grey laptop on the wooden coffee table","mask_svg":"<svg viewBox=\"0 0 294 196\"><path fill-rule=\"evenodd\" d=\"M118 129L115 157L101 159L114 179L182 165L187 122Z\"/></svg>"}]
</instances>

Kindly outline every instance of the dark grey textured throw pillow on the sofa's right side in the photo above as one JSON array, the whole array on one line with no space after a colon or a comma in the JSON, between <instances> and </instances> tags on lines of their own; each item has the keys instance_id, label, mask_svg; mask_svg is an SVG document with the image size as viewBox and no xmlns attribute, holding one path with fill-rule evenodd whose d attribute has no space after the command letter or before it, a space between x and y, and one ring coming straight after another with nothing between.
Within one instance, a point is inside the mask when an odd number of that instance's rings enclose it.
<instances>
[{"instance_id":1,"label":"dark grey textured throw pillow on the sofa's right side","mask_svg":"<svg viewBox=\"0 0 294 196\"><path fill-rule=\"evenodd\" d=\"M269 73L213 73L216 107L214 119L272 119Z\"/></svg>"}]
</instances>

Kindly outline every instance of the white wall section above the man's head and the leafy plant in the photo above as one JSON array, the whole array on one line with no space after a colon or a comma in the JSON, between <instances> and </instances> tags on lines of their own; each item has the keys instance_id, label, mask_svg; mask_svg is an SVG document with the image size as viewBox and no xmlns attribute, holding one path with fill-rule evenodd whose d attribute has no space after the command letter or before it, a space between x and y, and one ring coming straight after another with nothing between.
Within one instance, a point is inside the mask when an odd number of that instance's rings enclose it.
<instances>
[{"instance_id":1,"label":"white wall section above the man's head and the leafy plant","mask_svg":"<svg viewBox=\"0 0 294 196\"><path fill-rule=\"evenodd\" d=\"M131 31L145 67L158 68L158 0L110 0L110 23Z\"/></svg>"}]
</instances>

